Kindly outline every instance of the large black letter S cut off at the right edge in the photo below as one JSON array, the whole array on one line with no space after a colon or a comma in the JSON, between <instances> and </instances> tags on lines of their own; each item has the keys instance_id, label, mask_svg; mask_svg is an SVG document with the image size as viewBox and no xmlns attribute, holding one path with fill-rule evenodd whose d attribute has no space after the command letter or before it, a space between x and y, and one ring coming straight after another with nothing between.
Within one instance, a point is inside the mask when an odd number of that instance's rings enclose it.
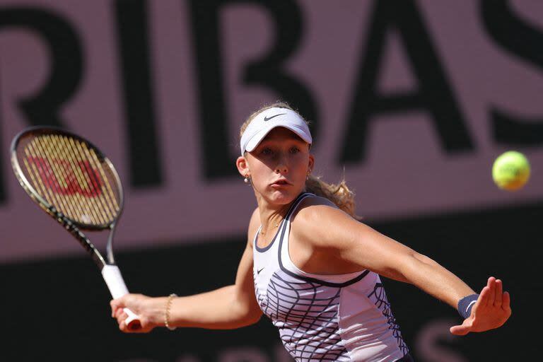
<instances>
[{"instance_id":1,"label":"large black letter S cut off at the right edge","mask_svg":"<svg viewBox=\"0 0 543 362\"><path fill-rule=\"evenodd\" d=\"M543 68L543 33L523 23L504 0L484 0L481 15L489 35L511 54ZM522 118L491 108L494 139L503 144L541 146L543 118Z\"/></svg>"}]
</instances>

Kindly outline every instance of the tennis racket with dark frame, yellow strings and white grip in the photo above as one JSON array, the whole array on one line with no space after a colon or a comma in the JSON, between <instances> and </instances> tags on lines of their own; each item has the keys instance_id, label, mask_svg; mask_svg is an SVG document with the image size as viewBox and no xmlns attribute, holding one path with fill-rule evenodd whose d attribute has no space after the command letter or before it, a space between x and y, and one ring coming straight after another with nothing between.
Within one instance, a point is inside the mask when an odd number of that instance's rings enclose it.
<instances>
[{"instance_id":1,"label":"tennis racket with dark frame, yellow strings and white grip","mask_svg":"<svg viewBox=\"0 0 543 362\"><path fill-rule=\"evenodd\" d=\"M31 127L13 139L11 165L28 195L91 255L113 298L127 294L113 257L123 194L111 161L81 136L52 127ZM105 258L81 230L110 231ZM128 308L124 312L129 329L139 329L139 317Z\"/></svg>"}]
</instances>

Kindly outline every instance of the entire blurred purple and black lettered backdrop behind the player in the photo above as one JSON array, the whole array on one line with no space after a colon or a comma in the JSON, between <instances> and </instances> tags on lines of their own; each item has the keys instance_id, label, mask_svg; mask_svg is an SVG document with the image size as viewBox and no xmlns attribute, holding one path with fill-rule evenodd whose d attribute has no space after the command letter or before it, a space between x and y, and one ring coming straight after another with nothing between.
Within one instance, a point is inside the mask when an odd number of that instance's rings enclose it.
<instances>
[{"instance_id":1,"label":"entire blurred purple and black lettered backdrop behind the player","mask_svg":"<svg viewBox=\"0 0 543 362\"><path fill-rule=\"evenodd\" d=\"M234 280L256 206L239 127L274 100L310 120L315 173L345 177L366 223L476 290L496 275L511 291L506 328L460 338L455 310L385 281L417 361L541 354L542 19L537 0L0 0L0 355L288 361L264 320L118 332L92 262L25 196L8 152L37 124L93 141L125 187L129 288L197 293ZM518 192L491 179L508 149L532 164Z\"/></svg>"}]
</instances>

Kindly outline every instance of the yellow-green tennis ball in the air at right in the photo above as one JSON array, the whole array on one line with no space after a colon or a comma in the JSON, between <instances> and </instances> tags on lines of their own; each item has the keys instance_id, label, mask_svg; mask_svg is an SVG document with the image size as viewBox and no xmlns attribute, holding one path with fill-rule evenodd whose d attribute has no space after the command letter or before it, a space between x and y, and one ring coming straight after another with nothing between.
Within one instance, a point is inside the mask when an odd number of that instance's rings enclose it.
<instances>
[{"instance_id":1,"label":"yellow-green tennis ball in the air at right","mask_svg":"<svg viewBox=\"0 0 543 362\"><path fill-rule=\"evenodd\" d=\"M520 189L530 177L530 163L526 156L517 151L502 153L492 166L492 178L501 189Z\"/></svg>"}]
</instances>

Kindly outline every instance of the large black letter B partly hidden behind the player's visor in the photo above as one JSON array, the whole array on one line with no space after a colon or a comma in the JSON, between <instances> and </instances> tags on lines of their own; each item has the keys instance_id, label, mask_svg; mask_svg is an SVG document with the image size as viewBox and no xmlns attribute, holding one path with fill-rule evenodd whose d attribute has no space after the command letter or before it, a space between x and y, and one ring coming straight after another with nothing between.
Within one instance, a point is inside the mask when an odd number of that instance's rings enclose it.
<instances>
[{"instance_id":1,"label":"large black letter B partly hidden behind the player's visor","mask_svg":"<svg viewBox=\"0 0 543 362\"><path fill-rule=\"evenodd\" d=\"M302 14L292 0L191 0L193 42L199 83L200 144L203 147L204 175L209 179L237 175L229 154L228 109L225 103L223 62L219 43L220 8L229 4L256 4L266 8L276 24L274 47L264 59L247 64L245 84L271 88L310 119L313 132L318 123L317 107L308 88L281 68L298 47Z\"/></svg>"}]
</instances>

